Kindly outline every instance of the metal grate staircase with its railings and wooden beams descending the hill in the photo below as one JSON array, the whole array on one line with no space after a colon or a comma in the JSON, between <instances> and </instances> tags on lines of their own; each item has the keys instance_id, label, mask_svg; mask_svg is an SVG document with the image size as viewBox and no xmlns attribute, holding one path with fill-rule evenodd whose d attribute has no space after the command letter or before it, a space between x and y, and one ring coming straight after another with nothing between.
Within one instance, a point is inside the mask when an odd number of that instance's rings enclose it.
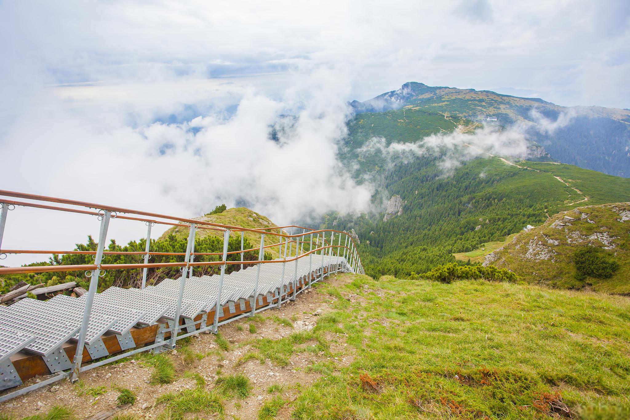
<instances>
[{"instance_id":1,"label":"metal grate staircase with its railings and wooden beams descending the hill","mask_svg":"<svg viewBox=\"0 0 630 420\"><path fill-rule=\"evenodd\" d=\"M30 201L14 201L4 197L25 198ZM49 205L50 202L61 203L66 207L55 207ZM95 256L94 264L80 266L0 267L0 275L86 271L90 278L88 293L81 297L57 295L47 301L26 297L12 305L0 306L0 391L4 391L0 395L0 402L63 378L77 380L81 372L140 351L159 352L175 348L178 339L192 334L217 332L222 324L251 317L261 310L278 308L288 300L295 300L299 293L332 273L364 273L352 237L347 232L338 230L313 230L294 226L248 229L1 190L0 205L0 259L12 253L84 253ZM101 229L97 251L2 249L8 211L16 206L98 217ZM117 218L145 222L148 225L146 252L136 253L144 256L144 263L101 264L108 225ZM183 261L147 263L151 255L148 246L151 226L154 224L188 227L186 253L170 253L182 256ZM284 230L287 228L302 229L302 232L289 235ZM197 255L194 253L197 229L224 232L223 252L215 253L221 256L221 261L193 261ZM244 231L260 234L260 247L244 250ZM240 252L227 252L230 232L241 232ZM281 256L284 247L284 258L265 261L263 251L270 247L264 245L265 235L275 236L280 240L272 246L279 247L278 253ZM328 239L326 236L329 236ZM306 252L305 244L308 244ZM287 249L291 250L289 254L294 253L288 258ZM244 252L256 250L259 251L257 261L243 261ZM240 261L231 261L233 254L240 254ZM226 267L231 264L240 264L241 270L226 274ZM195 268L212 265L219 266L221 273L212 276L193 275ZM159 267L179 267L181 276L175 279L164 278L156 285L146 285L147 269ZM143 270L141 287L110 287L96 293L102 270L134 269ZM37 375L52 376L30 386L13 389Z\"/></svg>"}]
</instances>

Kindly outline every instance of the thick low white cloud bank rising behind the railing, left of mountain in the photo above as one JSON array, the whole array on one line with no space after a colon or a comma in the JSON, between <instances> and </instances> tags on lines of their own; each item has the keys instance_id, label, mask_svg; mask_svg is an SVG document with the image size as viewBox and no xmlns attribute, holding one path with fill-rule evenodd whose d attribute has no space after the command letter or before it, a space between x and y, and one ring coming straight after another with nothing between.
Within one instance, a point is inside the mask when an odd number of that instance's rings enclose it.
<instances>
[{"instance_id":1,"label":"thick low white cloud bank rising behind the railing, left of mountain","mask_svg":"<svg viewBox=\"0 0 630 420\"><path fill-rule=\"evenodd\" d=\"M372 188L357 185L337 160L350 116L339 76L316 72L278 99L249 91L233 114L217 110L181 123L129 125L107 105L67 110L50 96L4 137L3 156L11 157L4 171L12 176L3 186L181 217L246 205L278 224L362 211ZM322 85L332 89L315 88ZM295 115L290 129L271 139L270 127L286 114ZM27 222L35 214L31 220L46 220L46 229ZM98 227L78 219L62 217L59 225L56 214L18 208L3 247L71 248ZM109 237L126 242L144 229L115 220Z\"/></svg>"}]
</instances>

